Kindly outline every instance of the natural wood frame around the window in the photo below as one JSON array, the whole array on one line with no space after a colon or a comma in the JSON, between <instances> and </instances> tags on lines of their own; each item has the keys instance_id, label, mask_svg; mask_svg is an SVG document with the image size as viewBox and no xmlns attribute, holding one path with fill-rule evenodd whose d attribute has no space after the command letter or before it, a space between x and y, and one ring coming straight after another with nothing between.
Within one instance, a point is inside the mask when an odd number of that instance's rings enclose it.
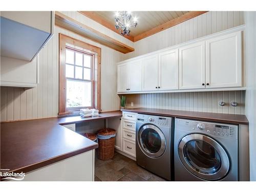
<instances>
[{"instance_id":1,"label":"natural wood frame around the window","mask_svg":"<svg viewBox=\"0 0 256 192\"><path fill-rule=\"evenodd\" d=\"M58 115L69 115L69 114L78 114L81 108L69 108L66 106L66 48L74 50L76 52L81 52L83 54L94 55L93 59L95 60L93 74L92 75L92 107L99 112L101 112L101 100L100 100L100 68L101 68L101 49L99 47L92 46L86 42L77 40L65 34L59 33L59 113ZM77 48L77 49L76 49ZM90 53L87 53L87 50ZM81 50L81 51L80 51ZM82 107L85 108L85 107Z\"/></svg>"}]
</instances>

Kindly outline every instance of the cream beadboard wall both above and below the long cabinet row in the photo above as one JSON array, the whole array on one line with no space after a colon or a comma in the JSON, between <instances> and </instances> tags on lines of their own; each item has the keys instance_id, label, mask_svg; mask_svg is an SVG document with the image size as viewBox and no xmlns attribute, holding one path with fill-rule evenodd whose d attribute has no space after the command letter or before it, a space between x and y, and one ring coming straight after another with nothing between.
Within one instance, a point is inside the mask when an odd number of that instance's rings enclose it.
<instances>
[{"instance_id":1,"label":"cream beadboard wall both above and below the long cabinet row","mask_svg":"<svg viewBox=\"0 0 256 192\"><path fill-rule=\"evenodd\" d=\"M141 39L134 44L135 52L122 55L122 60L181 44L205 35L244 24L244 13L237 11L210 11L172 28ZM139 24L138 24L139 27ZM219 101L226 102L218 106ZM231 101L239 105L230 106ZM244 114L245 91L159 93L127 95L127 106L147 108Z\"/></svg>"}]
</instances>

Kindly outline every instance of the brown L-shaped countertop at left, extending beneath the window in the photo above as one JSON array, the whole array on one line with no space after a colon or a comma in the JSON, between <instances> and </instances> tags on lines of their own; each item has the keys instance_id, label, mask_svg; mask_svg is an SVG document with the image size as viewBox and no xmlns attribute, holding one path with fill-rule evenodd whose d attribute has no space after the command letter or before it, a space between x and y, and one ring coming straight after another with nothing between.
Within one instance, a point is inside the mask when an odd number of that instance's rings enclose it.
<instances>
[{"instance_id":1,"label":"brown L-shaped countertop at left, extending beneath the window","mask_svg":"<svg viewBox=\"0 0 256 192\"><path fill-rule=\"evenodd\" d=\"M31 170L93 150L96 142L61 125L121 117L120 111L96 117L53 117L1 123L1 168Z\"/></svg>"}]
</instances>

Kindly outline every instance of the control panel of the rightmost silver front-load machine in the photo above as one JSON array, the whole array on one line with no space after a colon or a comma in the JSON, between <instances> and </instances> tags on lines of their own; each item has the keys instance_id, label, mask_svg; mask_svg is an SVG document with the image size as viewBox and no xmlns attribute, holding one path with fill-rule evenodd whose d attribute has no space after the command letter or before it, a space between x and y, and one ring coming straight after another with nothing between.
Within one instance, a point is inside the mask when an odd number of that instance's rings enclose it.
<instances>
[{"instance_id":1,"label":"control panel of the rightmost silver front-load machine","mask_svg":"<svg viewBox=\"0 0 256 192\"><path fill-rule=\"evenodd\" d=\"M232 124L176 119L175 129L203 132L212 136L238 139L238 125Z\"/></svg>"}]
</instances>

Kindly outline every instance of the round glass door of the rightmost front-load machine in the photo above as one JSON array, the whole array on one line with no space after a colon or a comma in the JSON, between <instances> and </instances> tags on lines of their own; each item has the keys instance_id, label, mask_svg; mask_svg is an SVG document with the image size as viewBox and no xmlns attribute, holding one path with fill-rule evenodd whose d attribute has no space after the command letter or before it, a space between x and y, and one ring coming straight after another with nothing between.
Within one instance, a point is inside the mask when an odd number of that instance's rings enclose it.
<instances>
[{"instance_id":1,"label":"round glass door of the rightmost front-load machine","mask_svg":"<svg viewBox=\"0 0 256 192\"><path fill-rule=\"evenodd\" d=\"M215 139L202 134L190 134L179 143L183 165L204 180L220 180L229 170L228 154Z\"/></svg>"}]
</instances>

